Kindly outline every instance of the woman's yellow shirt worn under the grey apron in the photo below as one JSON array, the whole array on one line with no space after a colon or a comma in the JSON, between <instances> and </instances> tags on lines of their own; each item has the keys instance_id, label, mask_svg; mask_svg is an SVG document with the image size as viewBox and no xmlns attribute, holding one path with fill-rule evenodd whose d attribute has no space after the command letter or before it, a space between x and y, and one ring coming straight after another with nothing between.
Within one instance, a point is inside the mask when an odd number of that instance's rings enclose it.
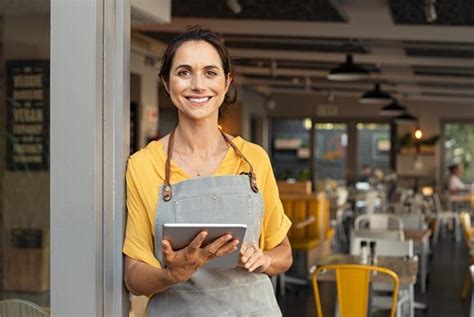
<instances>
[{"instance_id":1,"label":"woman's yellow shirt worn under the grey apron","mask_svg":"<svg viewBox=\"0 0 474 317\"><path fill-rule=\"evenodd\" d=\"M234 138L232 142L252 164L263 196L265 210L260 248L273 249L286 237L291 222L283 211L270 159L265 150L256 144L240 137ZM158 190L165 178L166 157L163 144L153 141L130 157L126 176L128 216L123 253L157 268L160 263L154 255L154 227ZM239 175L248 170L247 163L229 147L214 175ZM187 179L189 175L171 161L170 183Z\"/></svg>"}]
</instances>

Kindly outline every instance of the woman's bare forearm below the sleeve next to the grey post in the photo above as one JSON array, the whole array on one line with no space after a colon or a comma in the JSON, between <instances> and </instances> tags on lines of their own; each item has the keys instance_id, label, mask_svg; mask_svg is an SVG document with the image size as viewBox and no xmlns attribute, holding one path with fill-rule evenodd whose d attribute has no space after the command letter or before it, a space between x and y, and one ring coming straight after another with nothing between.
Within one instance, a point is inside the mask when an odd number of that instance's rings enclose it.
<instances>
[{"instance_id":1,"label":"woman's bare forearm below the sleeve next to the grey post","mask_svg":"<svg viewBox=\"0 0 474 317\"><path fill-rule=\"evenodd\" d=\"M174 284L168 269L158 269L126 257L125 285L132 294L150 296Z\"/></svg>"}]
</instances>

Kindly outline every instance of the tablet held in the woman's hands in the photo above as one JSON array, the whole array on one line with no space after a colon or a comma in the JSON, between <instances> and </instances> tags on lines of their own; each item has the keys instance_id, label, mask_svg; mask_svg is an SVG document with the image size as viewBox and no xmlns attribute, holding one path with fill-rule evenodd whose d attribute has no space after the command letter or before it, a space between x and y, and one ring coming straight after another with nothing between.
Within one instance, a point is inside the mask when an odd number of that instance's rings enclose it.
<instances>
[{"instance_id":1,"label":"tablet held in the woman's hands","mask_svg":"<svg viewBox=\"0 0 474 317\"><path fill-rule=\"evenodd\" d=\"M246 224L214 224L214 223L165 223L163 224L163 239L171 243L173 250L179 250L187 246L201 231L207 231L208 235L204 240L206 246L215 239L230 233L233 239L239 240L237 250L226 255L210 260L205 268L233 269L239 261L240 248L244 241ZM163 259L163 261L165 261ZM164 263L164 265L166 265Z\"/></svg>"}]
</instances>

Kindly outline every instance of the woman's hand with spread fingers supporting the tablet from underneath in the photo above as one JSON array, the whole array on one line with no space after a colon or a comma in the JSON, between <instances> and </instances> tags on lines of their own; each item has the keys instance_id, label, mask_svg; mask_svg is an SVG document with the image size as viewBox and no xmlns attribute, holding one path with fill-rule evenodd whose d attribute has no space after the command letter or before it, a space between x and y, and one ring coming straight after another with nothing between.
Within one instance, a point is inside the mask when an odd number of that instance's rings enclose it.
<instances>
[{"instance_id":1,"label":"woman's hand with spread fingers supporting the tablet from underneath","mask_svg":"<svg viewBox=\"0 0 474 317\"><path fill-rule=\"evenodd\" d=\"M170 282L180 283L189 280L209 260L234 252L239 244L238 240L232 239L232 235L225 234L202 247L206 237L207 232L202 231L187 247L178 251L173 250L168 240L161 241L161 250L166 259Z\"/></svg>"}]
</instances>

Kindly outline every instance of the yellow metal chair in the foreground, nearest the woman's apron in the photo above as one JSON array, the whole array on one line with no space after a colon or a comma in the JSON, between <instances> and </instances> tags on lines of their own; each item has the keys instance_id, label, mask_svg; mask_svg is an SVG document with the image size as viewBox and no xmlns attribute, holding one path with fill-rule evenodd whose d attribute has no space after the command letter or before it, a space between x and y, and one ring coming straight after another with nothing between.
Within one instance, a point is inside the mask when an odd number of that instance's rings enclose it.
<instances>
[{"instance_id":1,"label":"yellow metal chair in the foreground, nearest the woman's apron","mask_svg":"<svg viewBox=\"0 0 474 317\"><path fill-rule=\"evenodd\" d=\"M318 288L318 274L335 271L337 296L339 304L339 315L341 317L365 317L367 316L369 303L369 282L372 273L388 275L393 281L392 306L390 317L394 317L397 307L398 288L400 285L398 275L392 270L369 265L357 264L335 264L323 265L313 273L311 281L313 284L314 301L317 316L323 317L321 299Z\"/></svg>"}]
</instances>

